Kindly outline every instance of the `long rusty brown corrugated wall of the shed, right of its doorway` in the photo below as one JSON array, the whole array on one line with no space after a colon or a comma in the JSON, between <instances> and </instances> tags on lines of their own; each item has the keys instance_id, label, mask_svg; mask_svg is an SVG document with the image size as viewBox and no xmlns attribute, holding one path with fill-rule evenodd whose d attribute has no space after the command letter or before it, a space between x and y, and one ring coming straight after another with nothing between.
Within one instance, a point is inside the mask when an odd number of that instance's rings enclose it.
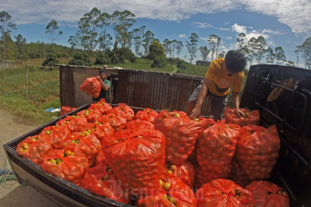
<instances>
[{"instance_id":1,"label":"long rusty brown corrugated wall of the shed, right of its doorway","mask_svg":"<svg viewBox=\"0 0 311 207\"><path fill-rule=\"evenodd\" d=\"M117 103L151 109L187 110L188 98L201 79L171 74L119 71ZM209 101L203 102L201 114L209 116Z\"/></svg>"}]
</instances>

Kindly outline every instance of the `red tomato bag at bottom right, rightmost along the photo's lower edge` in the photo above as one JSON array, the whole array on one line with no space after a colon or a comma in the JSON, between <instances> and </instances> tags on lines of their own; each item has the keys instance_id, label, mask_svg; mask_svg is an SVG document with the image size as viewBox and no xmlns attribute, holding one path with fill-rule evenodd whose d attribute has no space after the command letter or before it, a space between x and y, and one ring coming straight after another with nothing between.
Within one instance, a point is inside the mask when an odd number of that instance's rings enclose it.
<instances>
[{"instance_id":1,"label":"red tomato bag at bottom right, rightmost along the photo's lower edge","mask_svg":"<svg viewBox=\"0 0 311 207\"><path fill-rule=\"evenodd\" d=\"M269 181L253 181L246 190L254 195L254 206L261 207L289 207L288 193L281 187Z\"/></svg>"}]
</instances>

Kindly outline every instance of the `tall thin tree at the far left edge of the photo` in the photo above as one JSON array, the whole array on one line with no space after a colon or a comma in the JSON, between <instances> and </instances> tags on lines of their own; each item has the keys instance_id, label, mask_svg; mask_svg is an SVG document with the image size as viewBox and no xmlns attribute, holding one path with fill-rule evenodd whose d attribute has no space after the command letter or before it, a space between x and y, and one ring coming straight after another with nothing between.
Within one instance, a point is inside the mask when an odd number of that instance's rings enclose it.
<instances>
[{"instance_id":1,"label":"tall thin tree at the far left edge of the photo","mask_svg":"<svg viewBox=\"0 0 311 207\"><path fill-rule=\"evenodd\" d=\"M0 12L0 32L1 32L1 56L3 59L5 59L5 52L10 49L9 45L7 45L7 41L12 41L11 39L11 32L12 30L16 30L16 25L12 24L10 20L12 19L12 16L9 15L6 11Z\"/></svg>"}]
</instances>

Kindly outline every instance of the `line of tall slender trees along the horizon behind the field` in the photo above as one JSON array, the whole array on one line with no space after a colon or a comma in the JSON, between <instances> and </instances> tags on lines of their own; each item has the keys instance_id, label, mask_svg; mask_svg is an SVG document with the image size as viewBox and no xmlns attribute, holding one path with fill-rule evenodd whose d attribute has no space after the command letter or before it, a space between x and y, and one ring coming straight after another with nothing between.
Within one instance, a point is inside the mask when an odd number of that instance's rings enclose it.
<instances>
[{"instance_id":1,"label":"line of tall slender trees along the horizon behind the field","mask_svg":"<svg viewBox=\"0 0 311 207\"><path fill-rule=\"evenodd\" d=\"M128 48L136 57L154 59L157 53L151 47L163 47L164 56L174 58L184 48L183 42L165 39L163 43L155 38L155 34L150 30L146 30L143 25L139 28L132 28L136 22L135 15L130 11L114 11L112 14L106 12L101 13L96 7L90 12L84 14L77 22L77 29L74 35L70 36L68 43L70 47L59 46L55 44L55 40L62 35L62 31L58 27L56 20L51 20L46 26L45 33L49 37L49 43L37 42L27 43L21 34L14 36L16 41L12 40L11 34L16 30L16 25L11 23L12 16L6 11L0 12L0 58L2 60L16 60L27 58L44 57L48 52L58 54L58 56L73 56L77 52L87 52L94 57L99 53L117 54L118 48ZM218 57L224 57L225 51L220 52L222 40L216 34L209 35L207 45L200 46L196 33L191 33L189 40L185 41L185 46L189 53L189 59L184 56L184 60L193 63L196 58L197 51L203 61L214 60ZM252 37L247 39L244 33L237 36L237 49L244 53L249 65L252 64L278 64L298 66L299 57L304 61L305 68L310 69L311 65L311 37L307 38L304 43L296 46L293 51L296 60L286 60L285 52L281 46L274 49L268 47L263 36L258 38ZM155 42L159 43L156 44ZM151 49L151 50L150 50ZM156 48L159 50L159 48ZM162 53L160 53L162 54Z\"/></svg>"}]
</instances>

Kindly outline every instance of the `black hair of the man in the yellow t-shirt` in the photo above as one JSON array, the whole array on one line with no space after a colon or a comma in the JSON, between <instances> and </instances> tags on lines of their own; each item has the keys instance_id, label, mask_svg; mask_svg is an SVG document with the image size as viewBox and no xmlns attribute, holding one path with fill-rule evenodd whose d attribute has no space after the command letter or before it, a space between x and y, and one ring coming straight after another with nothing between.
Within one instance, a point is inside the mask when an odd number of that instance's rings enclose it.
<instances>
[{"instance_id":1,"label":"black hair of the man in the yellow t-shirt","mask_svg":"<svg viewBox=\"0 0 311 207\"><path fill-rule=\"evenodd\" d=\"M239 73L246 67L246 57L238 50L230 50L225 56L226 68L234 73Z\"/></svg>"}]
</instances>

